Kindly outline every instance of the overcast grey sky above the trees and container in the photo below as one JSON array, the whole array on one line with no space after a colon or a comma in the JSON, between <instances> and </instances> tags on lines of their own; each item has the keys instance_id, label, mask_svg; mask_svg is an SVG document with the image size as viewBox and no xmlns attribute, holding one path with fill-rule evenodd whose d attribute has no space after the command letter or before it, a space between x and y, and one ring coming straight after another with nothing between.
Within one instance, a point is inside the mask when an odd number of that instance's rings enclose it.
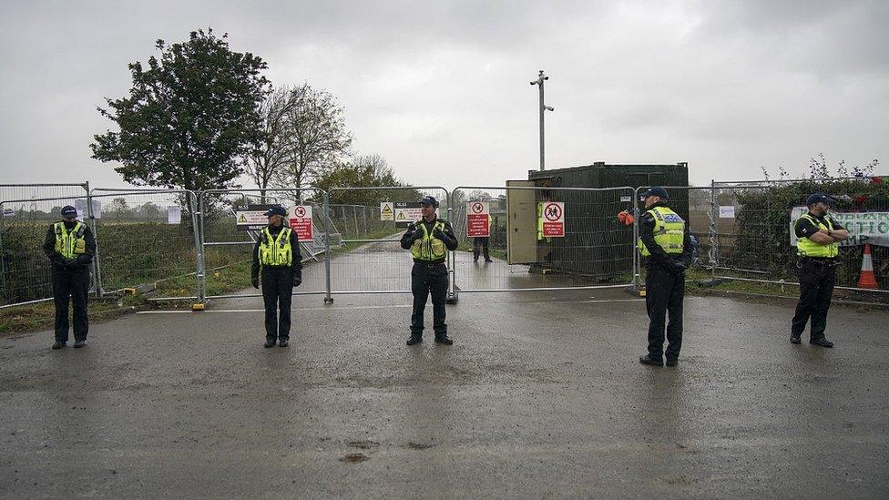
<instances>
[{"instance_id":1,"label":"overcast grey sky above the trees and container","mask_svg":"<svg viewBox=\"0 0 889 500\"><path fill-rule=\"evenodd\" d=\"M330 91L355 149L415 185L688 161L693 183L872 158L889 170L889 2L12 2L0 13L0 182L123 185L90 157L154 41L212 26L274 84Z\"/></svg>"}]
</instances>

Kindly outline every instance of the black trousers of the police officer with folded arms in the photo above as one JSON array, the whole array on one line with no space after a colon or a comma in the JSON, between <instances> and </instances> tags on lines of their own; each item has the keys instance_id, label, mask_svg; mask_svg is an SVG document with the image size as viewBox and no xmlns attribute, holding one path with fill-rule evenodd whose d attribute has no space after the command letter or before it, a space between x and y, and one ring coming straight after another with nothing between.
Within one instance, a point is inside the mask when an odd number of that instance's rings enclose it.
<instances>
[{"instance_id":1,"label":"black trousers of the police officer with folded arms","mask_svg":"<svg viewBox=\"0 0 889 500\"><path fill-rule=\"evenodd\" d=\"M812 318L809 335L812 340L823 339L827 328L827 310L831 308L836 268L833 260L803 259L800 268L800 302L791 323L791 334L802 336L806 322Z\"/></svg>"}]
</instances>

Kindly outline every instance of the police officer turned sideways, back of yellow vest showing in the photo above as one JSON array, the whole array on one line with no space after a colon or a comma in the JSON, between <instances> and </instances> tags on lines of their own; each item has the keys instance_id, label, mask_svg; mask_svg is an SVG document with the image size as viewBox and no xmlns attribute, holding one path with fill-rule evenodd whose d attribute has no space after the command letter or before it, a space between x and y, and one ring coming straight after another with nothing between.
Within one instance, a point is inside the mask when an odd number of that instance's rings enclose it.
<instances>
[{"instance_id":1,"label":"police officer turned sideways, back of yellow vest showing","mask_svg":"<svg viewBox=\"0 0 889 500\"><path fill-rule=\"evenodd\" d=\"M645 307L649 313L649 353L642 364L676 366L682 347L682 300L685 270L692 246L685 221L667 206L667 190L659 186L642 193L646 212L639 218L639 253L645 260ZM664 322L669 312L664 352Z\"/></svg>"}]
</instances>

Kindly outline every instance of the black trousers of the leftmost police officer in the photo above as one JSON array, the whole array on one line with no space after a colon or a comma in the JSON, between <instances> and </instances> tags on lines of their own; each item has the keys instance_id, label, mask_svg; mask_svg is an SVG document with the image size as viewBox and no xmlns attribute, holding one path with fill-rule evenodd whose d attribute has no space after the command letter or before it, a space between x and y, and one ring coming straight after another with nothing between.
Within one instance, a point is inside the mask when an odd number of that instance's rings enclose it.
<instances>
[{"instance_id":1,"label":"black trousers of the leftmost police officer","mask_svg":"<svg viewBox=\"0 0 889 500\"><path fill-rule=\"evenodd\" d=\"M86 341L89 267L64 268L53 265L53 301L56 303L56 341L68 341L68 303L74 309L74 340Z\"/></svg>"}]
</instances>

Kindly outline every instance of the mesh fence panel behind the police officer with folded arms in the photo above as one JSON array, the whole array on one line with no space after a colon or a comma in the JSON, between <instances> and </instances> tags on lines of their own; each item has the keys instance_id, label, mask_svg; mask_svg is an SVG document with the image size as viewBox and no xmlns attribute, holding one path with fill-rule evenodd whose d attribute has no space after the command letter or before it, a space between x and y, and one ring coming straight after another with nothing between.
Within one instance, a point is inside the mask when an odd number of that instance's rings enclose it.
<instances>
[{"instance_id":1,"label":"mesh fence panel behind the police officer with folded arms","mask_svg":"<svg viewBox=\"0 0 889 500\"><path fill-rule=\"evenodd\" d=\"M831 213L851 230L840 246L837 289L862 300L886 301L889 291L889 186L882 178L808 179L714 184L717 213L714 276L720 279L796 284L798 262L792 220L805 211L812 191L836 199ZM721 215L719 215L721 213ZM864 244L871 252L876 289L859 288ZM848 292L848 293L846 293ZM871 296L871 297L867 297Z\"/></svg>"}]
</instances>

